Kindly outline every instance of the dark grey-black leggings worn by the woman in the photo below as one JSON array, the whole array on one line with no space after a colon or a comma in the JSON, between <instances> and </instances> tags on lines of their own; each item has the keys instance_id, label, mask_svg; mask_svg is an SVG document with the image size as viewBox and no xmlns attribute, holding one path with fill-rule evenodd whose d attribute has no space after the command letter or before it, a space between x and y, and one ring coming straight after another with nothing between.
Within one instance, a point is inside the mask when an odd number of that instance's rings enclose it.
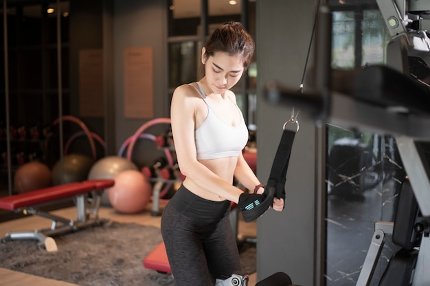
<instances>
[{"instance_id":1,"label":"dark grey-black leggings worn by the woman","mask_svg":"<svg viewBox=\"0 0 430 286\"><path fill-rule=\"evenodd\" d=\"M161 217L161 234L177 286L213 286L241 272L230 202L200 198L181 186Z\"/></svg>"}]
</instances>

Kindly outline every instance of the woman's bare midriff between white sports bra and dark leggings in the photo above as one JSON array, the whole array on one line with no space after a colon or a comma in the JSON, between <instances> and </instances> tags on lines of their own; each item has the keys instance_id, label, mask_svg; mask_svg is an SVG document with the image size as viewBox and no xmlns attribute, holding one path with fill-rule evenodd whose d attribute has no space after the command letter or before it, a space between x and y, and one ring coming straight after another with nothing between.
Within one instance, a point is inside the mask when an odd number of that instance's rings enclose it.
<instances>
[{"instance_id":1,"label":"woman's bare midriff between white sports bra and dark leggings","mask_svg":"<svg viewBox=\"0 0 430 286\"><path fill-rule=\"evenodd\" d=\"M234 177L234 169L236 168L236 164L238 162L237 157L226 157L226 158L219 158L219 159L212 159L212 160L199 160L200 163L205 165L208 169L214 172L217 176L219 176L221 179L225 180L225 182L228 182L231 184L233 182ZM199 195L199 197L204 198L205 200L213 200L213 201L222 201L225 200L225 198L221 198L218 194L215 192L212 193L210 191L206 191L202 189L201 187L194 184L192 180L189 178L185 178L183 181L183 186L187 188L192 193Z\"/></svg>"}]
</instances>

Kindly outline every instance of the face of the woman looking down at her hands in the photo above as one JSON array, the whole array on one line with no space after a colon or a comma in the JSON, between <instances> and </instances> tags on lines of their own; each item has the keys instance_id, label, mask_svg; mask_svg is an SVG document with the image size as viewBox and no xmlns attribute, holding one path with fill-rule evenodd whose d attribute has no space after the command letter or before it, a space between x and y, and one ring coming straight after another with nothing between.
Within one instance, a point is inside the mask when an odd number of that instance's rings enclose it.
<instances>
[{"instance_id":1,"label":"face of the woman looking down at her hands","mask_svg":"<svg viewBox=\"0 0 430 286\"><path fill-rule=\"evenodd\" d=\"M205 54L205 48L202 50ZM229 56L228 53L216 52L214 56L205 59L205 76L207 84L214 93L225 93L238 83L244 71L243 59L240 55Z\"/></svg>"}]
</instances>

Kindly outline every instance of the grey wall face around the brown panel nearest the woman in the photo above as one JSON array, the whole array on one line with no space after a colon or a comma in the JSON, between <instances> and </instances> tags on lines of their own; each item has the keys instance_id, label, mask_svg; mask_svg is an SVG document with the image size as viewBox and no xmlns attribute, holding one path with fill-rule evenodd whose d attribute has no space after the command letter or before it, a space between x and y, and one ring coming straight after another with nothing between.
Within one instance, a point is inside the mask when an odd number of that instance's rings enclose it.
<instances>
[{"instance_id":1,"label":"grey wall face around the brown panel nearest the woman","mask_svg":"<svg viewBox=\"0 0 430 286\"><path fill-rule=\"evenodd\" d=\"M113 53L115 78L116 148L132 136L147 119L124 117L124 49L152 47L154 51L155 118L169 116L167 1L116 0L114 3ZM145 144L139 144L142 147ZM133 151L139 154L139 150ZM136 158L137 160L139 158Z\"/></svg>"}]
</instances>

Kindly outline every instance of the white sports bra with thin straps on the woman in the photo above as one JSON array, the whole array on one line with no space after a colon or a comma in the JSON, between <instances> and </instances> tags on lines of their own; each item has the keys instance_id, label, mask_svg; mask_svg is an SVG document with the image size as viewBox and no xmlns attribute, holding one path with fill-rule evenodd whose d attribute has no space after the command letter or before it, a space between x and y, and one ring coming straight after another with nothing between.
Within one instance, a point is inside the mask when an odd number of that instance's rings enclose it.
<instances>
[{"instance_id":1,"label":"white sports bra with thin straps on the woman","mask_svg":"<svg viewBox=\"0 0 430 286\"><path fill-rule=\"evenodd\" d=\"M207 105L207 117L195 131L195 141L198 160L210 160L225 157L237 157L248 142L248 128L242 119L237 126L229 126L219 119L206 100L205 91L200 82L199 89L193 86ZM192 86L192 84L190 84Z\"/></svg>"}]
</instances>

